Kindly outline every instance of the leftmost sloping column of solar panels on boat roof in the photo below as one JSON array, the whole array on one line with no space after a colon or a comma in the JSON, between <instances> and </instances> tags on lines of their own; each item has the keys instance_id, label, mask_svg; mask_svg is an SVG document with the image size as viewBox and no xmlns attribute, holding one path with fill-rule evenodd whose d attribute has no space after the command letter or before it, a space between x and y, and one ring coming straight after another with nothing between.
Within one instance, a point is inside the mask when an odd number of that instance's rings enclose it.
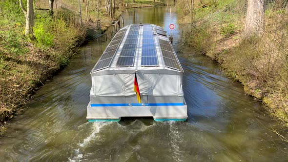
<instances>
[{"instance_id":1,"label":"leftmost sloping column of solar panels on boat roof","mask_svg":"<svg viewBox=\"0 0 288 162\"><path fill-rule=\"evenodd\" d=\"M94 67L93 71L101 70L103 68L107 68L110 66L111 61L118 49L119 44L121 43L126 29L120 30L114 38L111 40L109 45L106 47L105 51L103 52L101 58L97 62L96 66Z\"/></svg>"}]
</instances>

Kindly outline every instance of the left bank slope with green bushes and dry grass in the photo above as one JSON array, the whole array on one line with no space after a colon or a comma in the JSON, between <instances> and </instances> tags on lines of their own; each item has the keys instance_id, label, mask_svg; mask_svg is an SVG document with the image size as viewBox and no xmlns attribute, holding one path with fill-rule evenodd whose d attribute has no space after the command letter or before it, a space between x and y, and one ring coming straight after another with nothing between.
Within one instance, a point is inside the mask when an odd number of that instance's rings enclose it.
<instances>
[{"instance_id":1,"label":"left bank slope with green bushes and dry grass","mask_svg":"<svg viewBox=\"0 0 288 162\"><path fill-rule=\"evenodd\" d=\"M36 10L35 39L23 37L25 18L18 0L0 1L0 124L54 72L65 66L84 39L73 13L59 10L54 17Z\"/></svg>"}]
</instances>

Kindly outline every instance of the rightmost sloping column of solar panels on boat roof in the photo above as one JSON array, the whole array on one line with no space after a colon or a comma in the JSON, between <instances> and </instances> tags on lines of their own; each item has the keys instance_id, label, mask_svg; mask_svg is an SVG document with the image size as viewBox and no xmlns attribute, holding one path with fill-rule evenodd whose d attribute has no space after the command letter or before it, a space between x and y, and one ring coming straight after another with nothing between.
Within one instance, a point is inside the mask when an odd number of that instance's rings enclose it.
<instances>
[{"instance_id":1,"label":"rightmost sloping column of solar panels on boat roof","mask_svg":"<svg viewBox=\"0 0 288 162\"><path fill-rule=\"evenodd\" d=\"M177 61L176 55L172 50L170 42L162 39L159 39L159 42L165 66L182 71L179 61Z\"/></svg>"}]
</instances>

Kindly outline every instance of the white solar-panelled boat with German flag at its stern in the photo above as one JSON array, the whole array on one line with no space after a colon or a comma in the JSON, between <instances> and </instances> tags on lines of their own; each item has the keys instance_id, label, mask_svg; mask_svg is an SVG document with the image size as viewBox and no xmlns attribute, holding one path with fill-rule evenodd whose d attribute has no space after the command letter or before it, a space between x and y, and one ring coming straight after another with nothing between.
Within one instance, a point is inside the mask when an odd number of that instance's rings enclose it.
<instances>
[{"instance_id":1,"label":"white solar-panelled boat with German flag at its stern","mask_svg":"<svg viewBox=\"0 0 288 162\"><path fill-rule=\"evenodd\" d=\"M91 71L89 122L121 117L185 121L183 68L163 28L131 24L120 29Z\"/></svg>"}]
</instances>

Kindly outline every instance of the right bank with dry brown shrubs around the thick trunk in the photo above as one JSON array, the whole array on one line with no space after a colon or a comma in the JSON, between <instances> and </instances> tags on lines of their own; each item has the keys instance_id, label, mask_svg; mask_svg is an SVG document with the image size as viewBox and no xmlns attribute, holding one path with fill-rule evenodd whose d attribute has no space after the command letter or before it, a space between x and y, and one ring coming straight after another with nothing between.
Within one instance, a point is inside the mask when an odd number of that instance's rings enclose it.
<instances>
[{"instance_id":1,"label":"right bank with dry brown shrubs around the thick trunk","mask_svg":"<svg viewBox=\"0 0 288 162\"><path fill-rule=\"evenodd\" d=\"M265 34L243 41L245 0L218 0L194 6L194 23L186 43L217 61L227 76L239 80L245 92L267 106L288 126L288 12L282 3L266 6ZM182 16L180 23L189 22Z\"/></svg>"}]
</instances>

